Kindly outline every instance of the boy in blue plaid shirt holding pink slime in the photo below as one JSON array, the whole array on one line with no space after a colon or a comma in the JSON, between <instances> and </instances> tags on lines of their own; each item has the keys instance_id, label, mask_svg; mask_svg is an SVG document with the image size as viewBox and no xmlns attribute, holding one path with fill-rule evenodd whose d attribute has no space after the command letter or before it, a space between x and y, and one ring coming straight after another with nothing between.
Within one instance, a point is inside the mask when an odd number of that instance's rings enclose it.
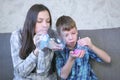
<instances>
[{"instance_id":1,"label":"boy in blue plaid shirt holding pink slime","mask_svg":"<svg viewBox=\"0 0 120 80\"><path fill-rule=\"evenodd\" d=\"M90 59L110 63L110 56L96 47L89 37L77 41L77 27L75 21L69 16L58 18L56 30L65 43L63 50L55 51L59 77L65 80L97 80L91 69ZM79 50L77 53L76 49Z\"/></svg>"}]
</instances>

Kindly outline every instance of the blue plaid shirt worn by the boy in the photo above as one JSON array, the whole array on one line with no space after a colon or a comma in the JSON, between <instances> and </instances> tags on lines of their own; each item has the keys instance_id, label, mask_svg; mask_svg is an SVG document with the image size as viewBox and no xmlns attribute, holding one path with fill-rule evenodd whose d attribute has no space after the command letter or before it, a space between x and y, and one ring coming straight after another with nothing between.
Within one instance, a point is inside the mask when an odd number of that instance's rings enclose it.
<instances>
[{"instance_id":1,"label":"blue plaid shirt worn by the boy","mask_svg":"<svg viewBox=\"0 0 120 80\"><path fill-rule=\"evenodd\" d=\"M84 49L85 55L83 58L76 58L71 72L66 80L97 80L96 75L90 66L90 59L95 59L98 62L102 60L97 57L97 55L89 49L87 46L75 46L78 49ZM57 73L60 76L61 68L65 65L68 60L70 49L65 47L63 51L56 51L56 68Z\"/></svg>"}]
</instances>

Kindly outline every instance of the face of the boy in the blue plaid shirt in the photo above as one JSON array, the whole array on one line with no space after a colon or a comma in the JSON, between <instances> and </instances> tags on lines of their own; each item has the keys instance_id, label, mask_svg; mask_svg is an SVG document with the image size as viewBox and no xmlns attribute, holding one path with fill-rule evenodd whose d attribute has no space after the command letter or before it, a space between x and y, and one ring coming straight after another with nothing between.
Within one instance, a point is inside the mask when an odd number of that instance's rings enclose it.
<instances>
[{"instance_id":1,"label":"face of the boy in the blue plaid shirt","mask_svg":"<svg viewBox=\"0 0 120 80\"><path fill-rule=\"evenodd\" d=\"M76 41L77 41L77 34L78 31L76 28L72 28L69 31L67 30L61 30L61 37L63 39L63 41L66 43L67 47L70 49L73 49Z\"/></svg>"}]
</instances>

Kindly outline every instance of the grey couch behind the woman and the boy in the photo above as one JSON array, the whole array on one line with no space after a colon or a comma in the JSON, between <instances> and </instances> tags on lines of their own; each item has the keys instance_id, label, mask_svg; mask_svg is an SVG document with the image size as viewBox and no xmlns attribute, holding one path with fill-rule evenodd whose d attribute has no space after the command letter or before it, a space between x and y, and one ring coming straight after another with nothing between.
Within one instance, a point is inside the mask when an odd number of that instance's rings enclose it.
<instances>
[{"instance_id":1,"label":"grey couch behind the woman and the boy","mask_svg":"<svg viewBox=\"0 0 120 80\"><path fill-rule=\"evenodd\" d=\"M0 80L13 79L10 52L11 33L0 33ZM120 27L96 30L79 30L80 37L90 37L92 42L105 50L112 59L110 64L92 61L99 80L120 80Z\"/></svg>"}]
</instances>

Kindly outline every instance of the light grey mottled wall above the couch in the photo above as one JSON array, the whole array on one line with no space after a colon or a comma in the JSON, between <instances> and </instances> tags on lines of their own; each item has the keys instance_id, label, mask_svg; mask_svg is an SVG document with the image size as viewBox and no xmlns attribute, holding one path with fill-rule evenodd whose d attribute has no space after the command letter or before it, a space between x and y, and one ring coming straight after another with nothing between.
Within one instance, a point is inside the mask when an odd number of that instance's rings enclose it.
<instances>
[{"instance_id":1,"label":"light grey mottled wall above the couch","mask_svg":"<svg viewBox=\"0 0 120 80\"><path fill-rule=\"evenodd\" d=\"M120 27L120 0L0 0L0 33L21 28L28 9L35 3L50 9L53 29L61 15L71 16L78 29Z\"/></svg>"}]
</instances>

